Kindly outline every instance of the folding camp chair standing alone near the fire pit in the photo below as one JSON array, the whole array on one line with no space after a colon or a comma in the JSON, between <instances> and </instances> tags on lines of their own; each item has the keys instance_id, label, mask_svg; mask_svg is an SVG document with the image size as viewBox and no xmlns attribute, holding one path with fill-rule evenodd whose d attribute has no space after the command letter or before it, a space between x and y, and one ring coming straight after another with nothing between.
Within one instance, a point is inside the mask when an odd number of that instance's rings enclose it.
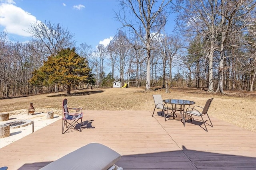
<instances>
[{"instance_id":1,"label":"folding camp chair standing alone near the fire pit","mask_svg":"<svg viewBox=\"0 0 256 170\"><path fill-rule=\"evenodd\" d=\"M76 129L78 131L82 131L82 118L83 112L82 108L69 108L76 110L77 113L69 113L68 111L68 100L63 100L63 107L62 107L62 134L70 129ZM80 112L81 111L81 112ZM78 123L80 121L80 123ZM80 129L77 129L76 126L80 126ZM67 128L64 131L65 127Z\"/></svg>"}]
</instances>

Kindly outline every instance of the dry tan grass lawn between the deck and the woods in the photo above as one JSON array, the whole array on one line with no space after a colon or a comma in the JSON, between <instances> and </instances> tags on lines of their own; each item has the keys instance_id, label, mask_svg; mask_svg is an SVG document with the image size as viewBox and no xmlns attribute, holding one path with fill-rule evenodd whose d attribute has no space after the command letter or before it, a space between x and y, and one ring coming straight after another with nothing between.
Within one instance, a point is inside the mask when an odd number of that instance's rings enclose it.
<instances>
[{"instance_id":1,"label":"dry tan grass lawn between the deck and the woods","mask_svg":"<svg viewBox=\"0 0 256 170\"><path fill-rule=\"evenodd\" d=\"M239 127L256 131L256 93L227 92L223 94L207 93L204 90L191 88L173 88L170 93L165 89L152 89L145 93L144 88L110 88L39 94L22 98L0 100L0 112L18 114L28 109L29 103L37 111L62 111L62 101L68 99L69 107L83 107L84 110L154 110L152 94L161 94L163 99L184 99L204 106L209 98L214 98L209 114L220 120L227 121ZM56 112L55 112L56 113ZM86 113L86 111L85 111ZM125 116L125 115L124 115Z\"/></svg>"}]
</instances>

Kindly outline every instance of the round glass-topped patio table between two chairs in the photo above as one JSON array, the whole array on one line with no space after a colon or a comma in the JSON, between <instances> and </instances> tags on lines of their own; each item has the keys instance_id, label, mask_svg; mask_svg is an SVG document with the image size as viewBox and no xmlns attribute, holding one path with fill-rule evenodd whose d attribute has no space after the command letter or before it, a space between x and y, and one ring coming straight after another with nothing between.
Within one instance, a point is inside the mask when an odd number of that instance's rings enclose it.
<instances>
[{"instance_id":1,"label":"round glass-topped patio table between two chairs","mask_svg":"<svg viewBox=\"0 0 256 170\"><path fill-rule=\"evenodd\" d=\"M173 113L175 114L176 111L180 111L180 115L183 120L183 125L185 126L185 119L184 119L184 109L185 106L188 105L188 107L192 104L196 104L196 102L190 101L190 100L181 100L181 99L166 99L163 100L164 103L171 104ZM177 105L180 105L180 107L177 107ZM175 119L175 117L174 117Z\"/></svg>"}]
</instances>

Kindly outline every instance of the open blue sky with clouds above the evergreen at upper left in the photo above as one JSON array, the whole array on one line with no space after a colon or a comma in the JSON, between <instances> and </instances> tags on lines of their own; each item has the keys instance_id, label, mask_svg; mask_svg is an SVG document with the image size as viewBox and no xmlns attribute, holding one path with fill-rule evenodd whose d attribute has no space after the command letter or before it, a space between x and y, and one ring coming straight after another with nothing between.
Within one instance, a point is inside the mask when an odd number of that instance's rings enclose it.
<instances>
[{"instance_id":1,"label":"open blue sky with clouds above the evergreen at upper left","mask_svg":"<svg viewBox=\"0 0 256 170\"><path fill-rule=\"evenodd\" d=\"M27 30L33 21L60 23L74 33L76 46L81 43L107 45L121 23L116 20L118 0L0 0L0 31L10 41L31 39ZM172 27L174 18L169 18ZM171 29L168 29L171 30Z\"/></svg>"}]
</instances>

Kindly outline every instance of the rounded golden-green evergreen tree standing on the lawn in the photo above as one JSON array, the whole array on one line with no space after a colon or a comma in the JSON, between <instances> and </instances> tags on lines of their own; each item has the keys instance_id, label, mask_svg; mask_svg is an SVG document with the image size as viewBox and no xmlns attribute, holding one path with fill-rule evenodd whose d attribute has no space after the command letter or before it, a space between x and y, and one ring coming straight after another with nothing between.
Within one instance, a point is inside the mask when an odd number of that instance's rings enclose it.
<instances>
[{"instance_id":1,"label":"rounded golden-green evergreen tree standing on the lawn","mask_svg":"<svg viewBox=\"0 0 256 170\"><path fill-rule=\"evenodd\" d=\"M88 81L90 74L88 61L80 57L75 48L67 48L60 50L56 56L50 55L43 66L34 71L30 82L35 86L62 84L71 94L71 86Z\"/></svg>"}]
</instances>

